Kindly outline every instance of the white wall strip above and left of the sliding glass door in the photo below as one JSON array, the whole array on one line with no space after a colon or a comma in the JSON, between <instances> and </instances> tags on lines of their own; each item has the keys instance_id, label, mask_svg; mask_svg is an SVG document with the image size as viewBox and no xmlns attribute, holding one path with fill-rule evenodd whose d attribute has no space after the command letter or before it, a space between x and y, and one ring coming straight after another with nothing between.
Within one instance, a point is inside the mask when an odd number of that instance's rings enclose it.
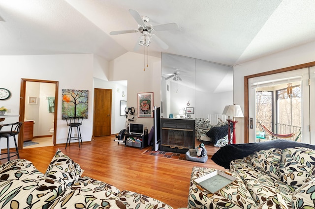
<instances>
[{"instance_id":1,"label":"white wall strip above and left of the sliding glass door","mask_svg":"<svg viewBox=\"0 0 315 209\"><path fill-rule=\"evenodd\" d=\"M244 111L245 76L313 61L315 61L315 42L235 65L233 67L234 104L241 105ZM236 143L244 143L244 118L238 118L238 121L239 123L236 124L235 131Z\"/></svg>"}]
</instances>

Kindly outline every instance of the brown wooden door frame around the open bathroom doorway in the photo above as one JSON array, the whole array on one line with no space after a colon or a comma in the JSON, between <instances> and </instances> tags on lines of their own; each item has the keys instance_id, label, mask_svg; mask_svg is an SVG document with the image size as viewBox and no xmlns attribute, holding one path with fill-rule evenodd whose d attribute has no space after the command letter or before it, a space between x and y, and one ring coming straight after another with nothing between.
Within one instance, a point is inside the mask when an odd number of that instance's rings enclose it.
<instances>
[{"instance_id":1,"label":"brown wooden door frame around the open bathroom doorway","mask_svg":"<svg viewBox=\"0 0 315 209\"><path fill-rule=\"evenodd\" d=\"M57 132L57 110L58 110L58 84L59 81L53 80L37 80L37 79L29 79L29 78L21 78L21 89L20 89L20 117L19 121L24 121L25 117L25 94L26 94L26 82L41 82L41 83L55 83L55 113L54 113L54 146L56 145L56 132ZM18 138L18 149L23 149L23 126L19 133Z\"/></svg>"}]
</instances>

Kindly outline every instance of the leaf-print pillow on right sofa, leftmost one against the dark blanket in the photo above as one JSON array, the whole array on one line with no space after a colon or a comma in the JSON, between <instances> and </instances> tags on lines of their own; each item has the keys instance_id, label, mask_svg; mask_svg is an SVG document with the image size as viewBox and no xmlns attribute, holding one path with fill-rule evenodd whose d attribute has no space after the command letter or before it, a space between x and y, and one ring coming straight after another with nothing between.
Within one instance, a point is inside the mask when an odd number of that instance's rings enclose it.
<instances>
[{"instance_id":1,"label":"leaf-print pillow on right sofa, leftmost one against the dark blanket","mask_svg":"<svg viewBox=\"0 0 315 209\"><path fill-rule=\"evenodd\" d=\"M252 155L252 166L278 179L281 156L281 149L276 148L254 152Z\"/></svg>"}]
</instances>

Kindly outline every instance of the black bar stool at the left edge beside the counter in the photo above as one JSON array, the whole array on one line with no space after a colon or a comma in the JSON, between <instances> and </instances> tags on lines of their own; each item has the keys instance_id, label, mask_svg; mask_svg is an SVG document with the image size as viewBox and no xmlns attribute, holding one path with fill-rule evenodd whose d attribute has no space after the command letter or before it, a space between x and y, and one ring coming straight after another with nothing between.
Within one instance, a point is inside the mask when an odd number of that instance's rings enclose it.
<instances>
[{"instance_id":1,"label":"black bar stool at the left edge beside the counter","mask_svg":"<svg viewBox=\"0 0 315 209\"><path fill-rule=\"evenodd\" d=\"M1 159L8 159L8 161L10 161L10 157L14 157L17 156L18 158L20 158L19 156L19 151L18 151L18 145L16 144L16 138L15 135L19 134L20 132L20 128L22 126L23 122L16 122L16 123L11 123L11 124L3 124L0 125L0 130L2 130L3 128L5 129L5 127L8 127L5 131L0 131L0 140L1 138L6 138L6 143L7 143L7 153L1 153L1 155L7 155L7 157L3 157L0 158ZM9 137L13 136L14 139L14 144L15 144L15 150L16 152L10 152L10 140ZM11 154L14 154L11 156Z\"/></svg>"}]
</instances>

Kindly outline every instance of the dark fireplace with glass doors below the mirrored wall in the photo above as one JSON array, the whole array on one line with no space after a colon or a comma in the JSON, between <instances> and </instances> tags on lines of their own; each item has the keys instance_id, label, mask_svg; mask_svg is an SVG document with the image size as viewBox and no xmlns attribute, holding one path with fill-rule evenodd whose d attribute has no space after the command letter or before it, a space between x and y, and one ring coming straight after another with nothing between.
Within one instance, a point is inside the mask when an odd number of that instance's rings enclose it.
<instances>
[{"instance_id":1,"label":"dark fireplace with glass doors below the mirrored wall","mask_svg":"<svg viewBox=\"0 0 315 209\"><path fill-rule=\"evenodd\" d=\"M195 120L161 118L161 151L186 153L195 148Z\"/></svg>"}]
</instances>

